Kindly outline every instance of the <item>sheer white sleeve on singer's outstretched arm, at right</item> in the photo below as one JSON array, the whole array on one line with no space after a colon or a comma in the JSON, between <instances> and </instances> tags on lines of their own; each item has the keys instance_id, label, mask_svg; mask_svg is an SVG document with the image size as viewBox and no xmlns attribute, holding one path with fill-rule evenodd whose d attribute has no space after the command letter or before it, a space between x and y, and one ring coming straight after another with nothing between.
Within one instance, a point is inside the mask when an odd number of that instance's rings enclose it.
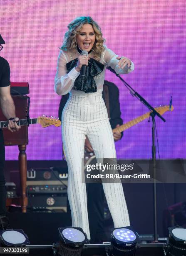
<instances>
[{"instance_id":1,"label":"sheer white sleeve on singer's outstretched arm, at right","mask_svg":"<svg viewBox=\"0 0 186 256\"><path fill-rule=\"evenodd\" d=\"M116 71L117 74L128 74L134 70L134 63L131 61L131 66L128 67L128 64L123 68L119 68L117 59L118 55L116 55L112 50L106 48L104 51L103 61L107 64L108 67L112 67Z\"/></svg>"}]
</instances>

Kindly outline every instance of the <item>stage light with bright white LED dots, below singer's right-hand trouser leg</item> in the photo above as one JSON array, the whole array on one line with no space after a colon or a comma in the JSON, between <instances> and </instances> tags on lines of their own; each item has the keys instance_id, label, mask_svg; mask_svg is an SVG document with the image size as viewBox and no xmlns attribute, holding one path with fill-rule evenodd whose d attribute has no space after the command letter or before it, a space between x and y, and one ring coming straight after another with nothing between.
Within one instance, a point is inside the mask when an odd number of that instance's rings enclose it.
<instances>
[{"instance_id":1,"label":"stage light with bright white LED dots, below singer's right-hand trouser leg","mask_svg":"<svg viewBox=\"0 0 186 256\"><path fill-rule=\"evenodd\" d=\"M113 256L133 256L136 252L136 243L138 241L138 233L131 228L114 228L111 234L110 255Z\"/></svg>"}]
</instances>

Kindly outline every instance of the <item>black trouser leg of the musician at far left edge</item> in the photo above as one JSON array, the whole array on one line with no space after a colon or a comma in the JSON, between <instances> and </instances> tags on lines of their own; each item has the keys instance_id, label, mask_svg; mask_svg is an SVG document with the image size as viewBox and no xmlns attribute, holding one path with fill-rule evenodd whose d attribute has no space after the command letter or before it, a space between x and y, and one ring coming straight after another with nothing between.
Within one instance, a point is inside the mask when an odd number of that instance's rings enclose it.
<instances>
[{"instance_id":1,"label":"black trouser leg of the musician at far left edge","mask_svg":"<svg viewBox=\"0 0 186 256\"><path fill-rule=\"evenodd\" d=\"M4 166L5 166L5 145L4 145L2 129L0 129L0 215L5 215L7 212Z\"/></svg>"}]
</instances>

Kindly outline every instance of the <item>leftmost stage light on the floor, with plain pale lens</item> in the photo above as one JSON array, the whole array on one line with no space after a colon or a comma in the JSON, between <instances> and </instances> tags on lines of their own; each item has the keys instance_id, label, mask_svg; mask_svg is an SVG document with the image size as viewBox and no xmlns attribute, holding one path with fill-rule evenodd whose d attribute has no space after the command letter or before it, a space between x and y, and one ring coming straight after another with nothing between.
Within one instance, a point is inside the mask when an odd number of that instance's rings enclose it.
<instances>
[{"instance_id":1,"label":"leftmost stage light on the floor, with plain pale lens","mask_svg":"<svg viewBox=\"0 0 186 256\"><path fill-rule=\"evenodd\" d=\"M0 230L0 242L4 246L24 246L30 244L22 229Z\"/></svg>"}]
</instances>

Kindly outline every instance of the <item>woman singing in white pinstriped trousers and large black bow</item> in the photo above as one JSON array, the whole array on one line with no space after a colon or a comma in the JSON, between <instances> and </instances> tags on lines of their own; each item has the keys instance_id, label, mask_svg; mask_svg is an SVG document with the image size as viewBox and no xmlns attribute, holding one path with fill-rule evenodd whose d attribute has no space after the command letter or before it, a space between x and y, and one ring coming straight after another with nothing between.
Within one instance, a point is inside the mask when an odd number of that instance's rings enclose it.
<instances>
[{"instance_id":1,"label":"woman singing in white pinstriped trousers and large black bow","mask_svg":"<svg viewBox=\"0 0 186 256\"><path fill-rule=\"evenodd\" d=\"M87 195L82 183L82 159L85 137L89 138L97 159L116 159L116 150L107 109L102 98L105 69L112 67L117 74L134 70L126 57L118 57L104 46L102 32L91 17L79 17L68 25L57 62L55 91L69 92L62 112L62 140L69 170L68 199L72 226L80 227L90 239L87 214ZM87 51L88 56L82 55ZM82 65L86 74L82 76ZM121 183L103 183L104 193L114 227L129 226Z\"/></svg>"}]
</instances>

